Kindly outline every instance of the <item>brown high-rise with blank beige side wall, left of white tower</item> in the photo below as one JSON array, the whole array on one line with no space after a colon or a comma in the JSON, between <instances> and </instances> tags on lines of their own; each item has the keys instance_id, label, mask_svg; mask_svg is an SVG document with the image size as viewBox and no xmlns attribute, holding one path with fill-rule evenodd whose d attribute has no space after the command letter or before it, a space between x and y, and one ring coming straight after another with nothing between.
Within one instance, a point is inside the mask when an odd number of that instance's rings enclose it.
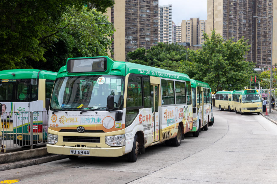
<instances>
[{"instance_id":1,"label":"brown high-rise with blank beige side wall, left of white tower","mask_svg":"<svg viewBox=\"0 0 277 184\"><path fill-rule=\"evenodd\" d=\"M125 61L130 51L158 43L158 0L115 0L106 14L116 30L112 36L116 61Z\"/></svg>"}]
</instances>

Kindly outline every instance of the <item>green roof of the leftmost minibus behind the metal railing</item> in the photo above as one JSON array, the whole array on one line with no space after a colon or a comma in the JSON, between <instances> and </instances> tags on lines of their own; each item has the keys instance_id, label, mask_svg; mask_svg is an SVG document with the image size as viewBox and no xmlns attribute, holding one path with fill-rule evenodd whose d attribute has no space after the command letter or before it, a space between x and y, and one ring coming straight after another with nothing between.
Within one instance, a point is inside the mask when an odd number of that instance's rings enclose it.
<instances>
[{"instance_id":1,"label":"green roof of the leftmost minibus behind the metal railing","mask_svg":"<svg viewBox=\"0 0 277 184\"><path fill-rule=\"evenodd\" d=\"M39 73L39 76L38 76ZM55 80L57 72L38 69L14 69L0 71L0 79L43 78Z\"/></svg>"}]
</instances>

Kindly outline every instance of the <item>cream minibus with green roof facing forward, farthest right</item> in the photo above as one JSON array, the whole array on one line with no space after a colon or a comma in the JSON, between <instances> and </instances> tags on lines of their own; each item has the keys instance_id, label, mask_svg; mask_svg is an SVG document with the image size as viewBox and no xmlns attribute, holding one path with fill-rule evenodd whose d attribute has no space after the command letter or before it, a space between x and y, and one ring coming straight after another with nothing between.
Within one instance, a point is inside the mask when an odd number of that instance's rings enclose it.
<instances>
[{"instance_id":1,"label":"cream minibus with green roof facing forward, farthest right","mask_svg":"<svg viewBox=\"0 0 277 184\"><path fill-rule=\"evenodd\" d=\"M232 101L233 110L241 115L262 112L261 95L255 89L233 91Z\"/></svg>"}]
</instances>

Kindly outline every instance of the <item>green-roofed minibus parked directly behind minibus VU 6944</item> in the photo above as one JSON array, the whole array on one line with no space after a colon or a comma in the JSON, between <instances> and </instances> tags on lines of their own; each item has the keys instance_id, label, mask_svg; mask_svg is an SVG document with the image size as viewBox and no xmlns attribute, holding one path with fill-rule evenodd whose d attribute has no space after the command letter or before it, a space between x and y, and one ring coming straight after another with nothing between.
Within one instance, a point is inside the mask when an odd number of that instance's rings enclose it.
<instances>
[{"instance_id":1,"label":"green-roofed minibus parked directly behind minibus VU 6944","mask_svg":"<svg viewBox=\"0 0 277 184\"><path fill-rule=\"evenodd\" d=\"M214 124L212 114L212 93L207 83L190 79L192 90L192 114L193 114L193 137L198 137L201 129L207 131L209 123Z\"/></svg>"}]
</instances>

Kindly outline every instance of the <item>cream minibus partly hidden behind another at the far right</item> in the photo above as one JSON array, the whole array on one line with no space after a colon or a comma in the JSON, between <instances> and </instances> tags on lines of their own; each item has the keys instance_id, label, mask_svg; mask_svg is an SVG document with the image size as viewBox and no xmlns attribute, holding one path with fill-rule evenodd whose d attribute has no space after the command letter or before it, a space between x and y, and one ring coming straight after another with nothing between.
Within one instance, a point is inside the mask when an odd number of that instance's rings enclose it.
<instances>
[{"instance_id":1,"label":"cream minibus partly hidden behind another at the far right","mask_svg":"<svg viewBox=\"0 0 277 184\"><path fill-rule=\"evenodd\" d=\"M233 110L232 106L233 91L218 91L216 92L215 106L219 110Z\"/></svg>"}]
</instances>

